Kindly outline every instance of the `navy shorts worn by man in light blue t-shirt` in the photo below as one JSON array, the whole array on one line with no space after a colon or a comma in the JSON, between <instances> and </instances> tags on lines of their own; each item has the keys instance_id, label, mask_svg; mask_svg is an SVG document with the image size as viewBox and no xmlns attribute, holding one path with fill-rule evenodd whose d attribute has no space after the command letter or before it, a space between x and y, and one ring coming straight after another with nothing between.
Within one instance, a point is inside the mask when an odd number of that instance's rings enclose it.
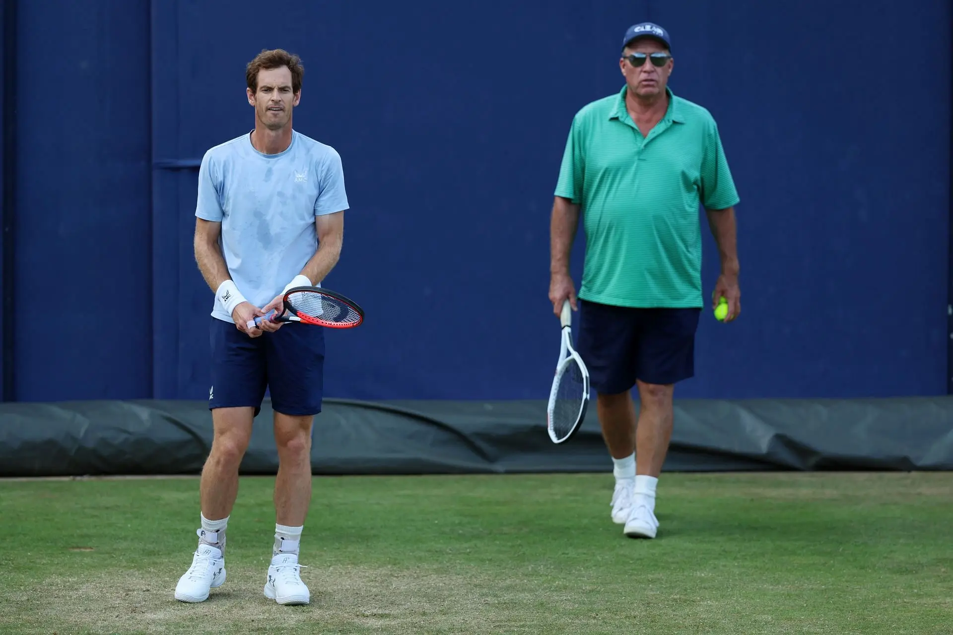
<instances>
[{"instance_id":1,"label":"navy shorts worn by man in light blue t-shirt","mask_svg":"<svg viewBox=\"0 0 953 635\"><path fill-rule=\"evenodd\" d=\"M274 333L249 337L231 322L210 319L209 409L250 406L258 416L267 388L276 412L303 416L321 411L323 327L285 324Z\"/></svg>"}]
</instances>

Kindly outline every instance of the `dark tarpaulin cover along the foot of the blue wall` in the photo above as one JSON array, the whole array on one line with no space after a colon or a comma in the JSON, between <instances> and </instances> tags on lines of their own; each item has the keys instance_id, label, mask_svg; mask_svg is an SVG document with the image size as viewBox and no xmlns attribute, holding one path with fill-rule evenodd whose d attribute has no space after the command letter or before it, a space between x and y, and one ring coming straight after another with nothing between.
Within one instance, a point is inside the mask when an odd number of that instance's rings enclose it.
<instances>
[{"instance_id":1,"label":"dark tarpaulin cover along the foot of the blue wall","mask_svg":"<svg viewBox=\"0 0 953 635\"><path fill-rule=\"evenodd\" d=\"M608 471L596 408L556 446L545 403L328 399L315 420L315 474ZM242 463L274 474L271 404ZM0 405L0 476L198 473L212 446L204 402ZM670 471L953 469L953 398L683 400Z\"/></svg>"}]
</instances>

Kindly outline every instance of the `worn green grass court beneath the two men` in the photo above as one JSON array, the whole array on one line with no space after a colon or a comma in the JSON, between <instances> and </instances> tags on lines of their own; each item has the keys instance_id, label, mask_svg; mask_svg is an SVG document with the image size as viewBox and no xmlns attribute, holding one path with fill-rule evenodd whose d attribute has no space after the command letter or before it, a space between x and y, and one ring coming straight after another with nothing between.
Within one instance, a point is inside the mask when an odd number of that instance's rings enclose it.
<instances>
[{"instance_id":1,"label":"worn green grass court beneath the two men","mask_svg":"<svg viewBox=\"0 0 953 635\"><path fill-rule=\"evenodd\" d=\"M264 598L274 479L242 480L228 582L172 599L197 480L0 481L0 632L949 633L953 474L663 474L659 537L611 475L314 479L308 606Z\"/></svg>"}]
</instances>

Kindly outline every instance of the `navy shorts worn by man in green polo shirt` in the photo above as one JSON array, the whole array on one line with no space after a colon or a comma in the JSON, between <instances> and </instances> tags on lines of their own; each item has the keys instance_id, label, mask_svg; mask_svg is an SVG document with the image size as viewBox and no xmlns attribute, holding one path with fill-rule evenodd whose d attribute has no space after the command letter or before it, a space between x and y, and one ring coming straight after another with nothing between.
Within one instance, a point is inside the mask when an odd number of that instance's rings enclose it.
<instances>
[{"instance_id":1,"label":"navy shorts worn by man in green polo shirt","mask_svg":"<svg viewBox=\"0 0 953 635\"><path fill-rule=\"evenodd\" d=\"M577 350L592 387L626 392L636 380L676 384L695 374L700 308L629 308L579 299Z\"/></svg>"}]
</instances>

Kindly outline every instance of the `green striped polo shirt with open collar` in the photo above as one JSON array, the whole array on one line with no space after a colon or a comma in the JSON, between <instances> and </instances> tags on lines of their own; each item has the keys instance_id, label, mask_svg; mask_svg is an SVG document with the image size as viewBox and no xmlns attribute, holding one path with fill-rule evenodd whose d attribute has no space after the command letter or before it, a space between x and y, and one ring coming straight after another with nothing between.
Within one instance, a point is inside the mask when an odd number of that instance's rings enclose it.
<instances>
[{"instance_id":1,"label":"green striped polo shirt with open collar","mask_svg":"<svg viewBox=\"0 0 953 635\"><path fill-rule=\"evenodd\" d=\"M667 89L664 118L643 137L625 87L573 118L556 195L580 205L583 300L623 307L704 307L700 204L738 204L711 113Z\"/></svg>"}]
</instances>

